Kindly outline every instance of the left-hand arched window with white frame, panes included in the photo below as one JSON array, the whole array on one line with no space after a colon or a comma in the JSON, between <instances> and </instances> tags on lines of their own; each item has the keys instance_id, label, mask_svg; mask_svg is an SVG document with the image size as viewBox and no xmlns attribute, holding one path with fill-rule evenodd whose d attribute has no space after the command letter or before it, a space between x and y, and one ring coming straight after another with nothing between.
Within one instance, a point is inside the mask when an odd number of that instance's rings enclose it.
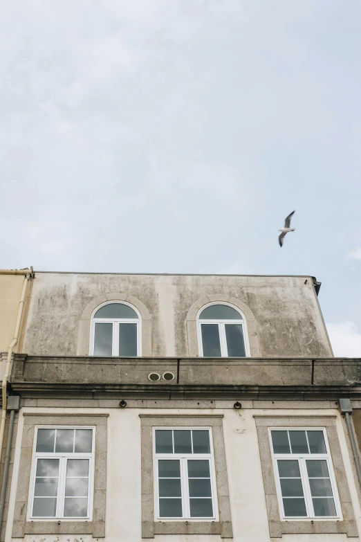
<instances>
[{"instance_id":1,"label":"left-hand arched window with white frame, panes included","mask_svg":"<svg viewBox=\"0 0 361 542\"><path fill-rule=\"evenodd\" d=\"M140 325L140 314L129 303L104 303L91 320L91 354L140 356Z\"/></svg>"}]
</instances>

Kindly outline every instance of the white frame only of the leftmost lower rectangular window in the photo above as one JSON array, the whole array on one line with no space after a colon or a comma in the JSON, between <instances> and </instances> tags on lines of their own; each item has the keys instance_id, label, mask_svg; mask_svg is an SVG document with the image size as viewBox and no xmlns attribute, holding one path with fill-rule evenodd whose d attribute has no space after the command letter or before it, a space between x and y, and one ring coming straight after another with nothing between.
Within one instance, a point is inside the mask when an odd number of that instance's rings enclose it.
<instances>
[{"instance_id":1,"label":"white frame only of the leftmost lower rectangular window","mask_svg":"<svg viewBox=\"0 0 361 542\"><path fill-rule=\"evenodd\" d=\"M63 453L63 452L37 452L37 433L39 429L89 429L93 431L91 453ZM55 435L56 438L56 435ZM35 480L38 459L59 459L59 476L57 483L57 509L55 516L33 516L33 503L35 494ZM68 459L89 459L89 486L88 486L88 514L86 516L64 516L66 461ZM31 463L28 513L27 521L92 521L93 520L93 494L94 494L94 461L95 461L95 426L64 426L64 425L37 425L34 431L33 458Z\"/></svg>"}]
</instances>

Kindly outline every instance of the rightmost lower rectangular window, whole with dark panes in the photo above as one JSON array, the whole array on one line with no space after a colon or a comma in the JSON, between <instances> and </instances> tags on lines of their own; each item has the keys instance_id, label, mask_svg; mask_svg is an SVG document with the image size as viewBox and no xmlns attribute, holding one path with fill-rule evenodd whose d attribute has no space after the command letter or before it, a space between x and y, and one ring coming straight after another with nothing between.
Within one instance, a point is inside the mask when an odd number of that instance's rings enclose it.
<instances>
[{"instance_id":1,"label":"rightmost lower rectangular window, whole with dark panes","mask_svg":"<svg viewBox=\"0 0 361 542\"><path fill-rule=\"evenodd\" d=\"M270 438L283 518L339 518L326 432L272 429Z\"/></svg>"}]
</instances>

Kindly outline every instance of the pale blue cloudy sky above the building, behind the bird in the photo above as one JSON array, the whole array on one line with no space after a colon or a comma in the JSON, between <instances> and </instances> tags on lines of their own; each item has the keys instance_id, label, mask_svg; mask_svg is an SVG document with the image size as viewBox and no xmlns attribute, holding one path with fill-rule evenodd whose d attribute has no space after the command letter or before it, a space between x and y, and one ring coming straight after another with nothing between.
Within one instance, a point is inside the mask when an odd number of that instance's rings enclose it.
<instances>
[{"instance_id":1,"label":"pale blue cloudy sky above the building, behind the bird","mask_svg":"<svg viewBox=\"0 0 361 542\"><path fill-rule=\"evenodd\" d=\"M0 267L315 275L361 357L359 0L12 0L0 51Z\"/></svg>"}]
</instances>

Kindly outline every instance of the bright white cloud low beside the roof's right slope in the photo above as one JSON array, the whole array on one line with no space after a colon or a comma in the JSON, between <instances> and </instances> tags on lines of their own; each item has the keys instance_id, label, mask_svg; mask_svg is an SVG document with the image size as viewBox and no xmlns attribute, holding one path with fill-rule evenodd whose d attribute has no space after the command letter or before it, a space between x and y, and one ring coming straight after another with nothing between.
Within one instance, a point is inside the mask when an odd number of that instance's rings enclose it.
<instances>
[{"instance_id":1,"label":"bright white cloud low beside the roof's right slope","mask_svg":"<svg viewBox=\"0 0 361 542\"><path fill-rule=\"evenodd\" d=\"M326 324L335 356L361 357L361 332L351 320Z\"/></svg>"}]
</instances>

